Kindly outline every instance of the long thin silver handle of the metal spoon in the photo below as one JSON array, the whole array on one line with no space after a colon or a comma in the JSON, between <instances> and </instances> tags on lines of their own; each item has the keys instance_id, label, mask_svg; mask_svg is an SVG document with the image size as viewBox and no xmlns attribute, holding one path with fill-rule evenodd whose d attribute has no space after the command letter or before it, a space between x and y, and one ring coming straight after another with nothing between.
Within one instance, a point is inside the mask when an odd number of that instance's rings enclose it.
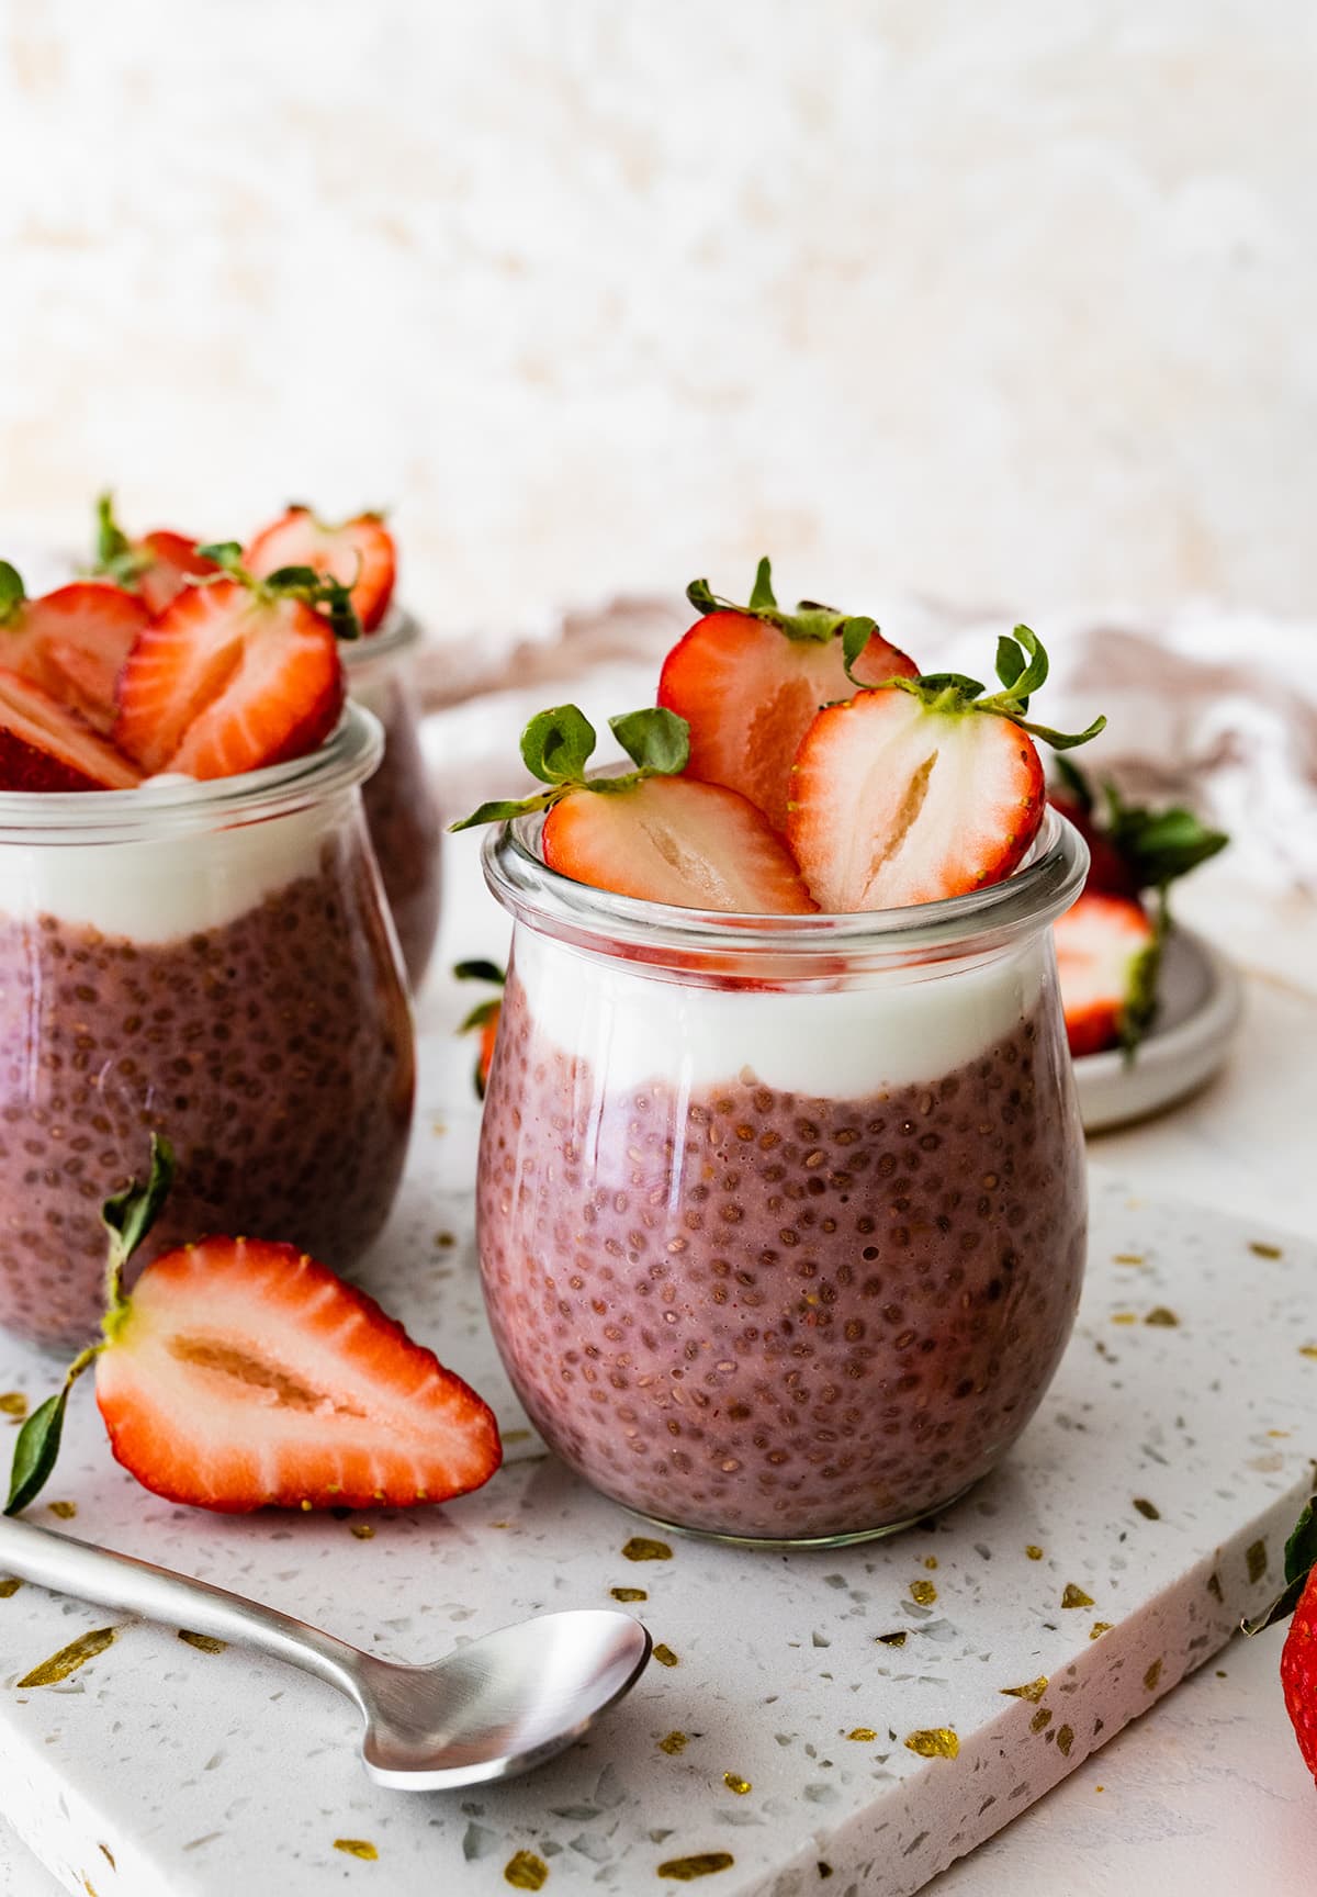
<instances>
[{"instance_id":1,"label":"long thin silver handle of the metal spoon","mask_svg":"<svg viewBox=\"0 0 1317 1897\"><path fill-rule=\"evenodd\" d=\"M0 1573L140 1614L144 1620L163 1620L190 1633L256 1647L275 1660L317 1673L362 1704L357 1669L366 1656L355 1647L294 1620L292 1614L281 1614L226 1588L213 1588L207 1580L192 1580L131 1554L112 1554L8 1516L0 1516Z\"/></svg>"}]
</instances>

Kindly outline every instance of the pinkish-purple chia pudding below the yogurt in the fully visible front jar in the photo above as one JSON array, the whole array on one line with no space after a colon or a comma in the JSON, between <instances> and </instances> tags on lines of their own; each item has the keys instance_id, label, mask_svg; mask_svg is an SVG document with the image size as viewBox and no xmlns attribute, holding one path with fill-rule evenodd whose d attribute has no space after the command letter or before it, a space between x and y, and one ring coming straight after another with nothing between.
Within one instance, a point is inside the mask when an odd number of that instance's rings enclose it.
<instances>
[{"instance_id":1,"label":"pinkish-purple chia pudding below the yogurt in the fully visible front jar","mask_svg":"<svg viewBox=\"0 0 1317 1897\"><path fill-rule=\"evenodd\" d=\"M1044 994L911 1085L820 1096L753 1066L617 1085L512 971L480 1262L535 1427L674 1527L827 1540L945 1506L1021 1434L1074 1322L1065 1060Z\"/></svg>"}]
</instances>

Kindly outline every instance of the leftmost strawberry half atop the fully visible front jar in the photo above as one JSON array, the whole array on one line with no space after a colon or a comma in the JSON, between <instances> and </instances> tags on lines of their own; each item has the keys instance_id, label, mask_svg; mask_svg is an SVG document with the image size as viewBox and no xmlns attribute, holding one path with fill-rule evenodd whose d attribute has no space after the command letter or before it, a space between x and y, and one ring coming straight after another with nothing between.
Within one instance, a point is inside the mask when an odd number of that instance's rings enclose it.
<instances>
[{"instance_id":1,"label":"leftmost strawberry half atop the fully visible front jar","mask_svg":"<svg viewBox=\"0 0 1317 1897\"><path fill-rule=\"evenodd\" d=\"M679 776L687 761L685 719L653 708L609 725L636 770L586 778L594 727L575 706L558 706L533 717L522 734L528 770L550 789L522 802L482 804L452 829L547 810L545 861L575 882L742 916L814 909L791 852L750 799Z\"/></svg>"}]
</instances>

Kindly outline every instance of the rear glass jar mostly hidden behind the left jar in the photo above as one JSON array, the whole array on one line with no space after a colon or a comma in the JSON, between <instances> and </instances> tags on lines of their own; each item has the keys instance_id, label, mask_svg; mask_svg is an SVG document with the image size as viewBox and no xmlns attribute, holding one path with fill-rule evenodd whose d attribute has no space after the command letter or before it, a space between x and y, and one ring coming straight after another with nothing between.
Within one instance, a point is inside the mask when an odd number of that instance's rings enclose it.
<instances>
[{"instance_id":1,"label":"rear glass jar mostly hidden behind the left jar","mask_svg":"<svg viewBox=\"0 0 1317 1897\"><path fill-rule=\"evenodd\" d=\"M421 755L416 647L421 628L397 607L380 632L340 647L347 689L383 725L383 763L364 787L393 926L412 992L421 985L438 933L438 802Z\"/></svg>"}]
</instances>

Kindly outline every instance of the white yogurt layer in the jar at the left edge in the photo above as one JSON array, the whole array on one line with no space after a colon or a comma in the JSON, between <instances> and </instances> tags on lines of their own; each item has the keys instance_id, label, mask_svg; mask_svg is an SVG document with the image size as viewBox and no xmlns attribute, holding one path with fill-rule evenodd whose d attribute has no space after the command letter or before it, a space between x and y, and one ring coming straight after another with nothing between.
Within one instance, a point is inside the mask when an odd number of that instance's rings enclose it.
<instances>
[{"instance_id":1,"label":"white yogurt layer in the jar at the left edge","mask_svg":"<svg viewBox=\"0 0 1317 1897\"><path fill-rule=\"evenodd\" d=\"M139 795L139 793L133 793ZM321 867L338 799L258 823L142 842L0 842L0 916L83 924L135 943L222 928Z\"/></svg>"}]
</instances>

